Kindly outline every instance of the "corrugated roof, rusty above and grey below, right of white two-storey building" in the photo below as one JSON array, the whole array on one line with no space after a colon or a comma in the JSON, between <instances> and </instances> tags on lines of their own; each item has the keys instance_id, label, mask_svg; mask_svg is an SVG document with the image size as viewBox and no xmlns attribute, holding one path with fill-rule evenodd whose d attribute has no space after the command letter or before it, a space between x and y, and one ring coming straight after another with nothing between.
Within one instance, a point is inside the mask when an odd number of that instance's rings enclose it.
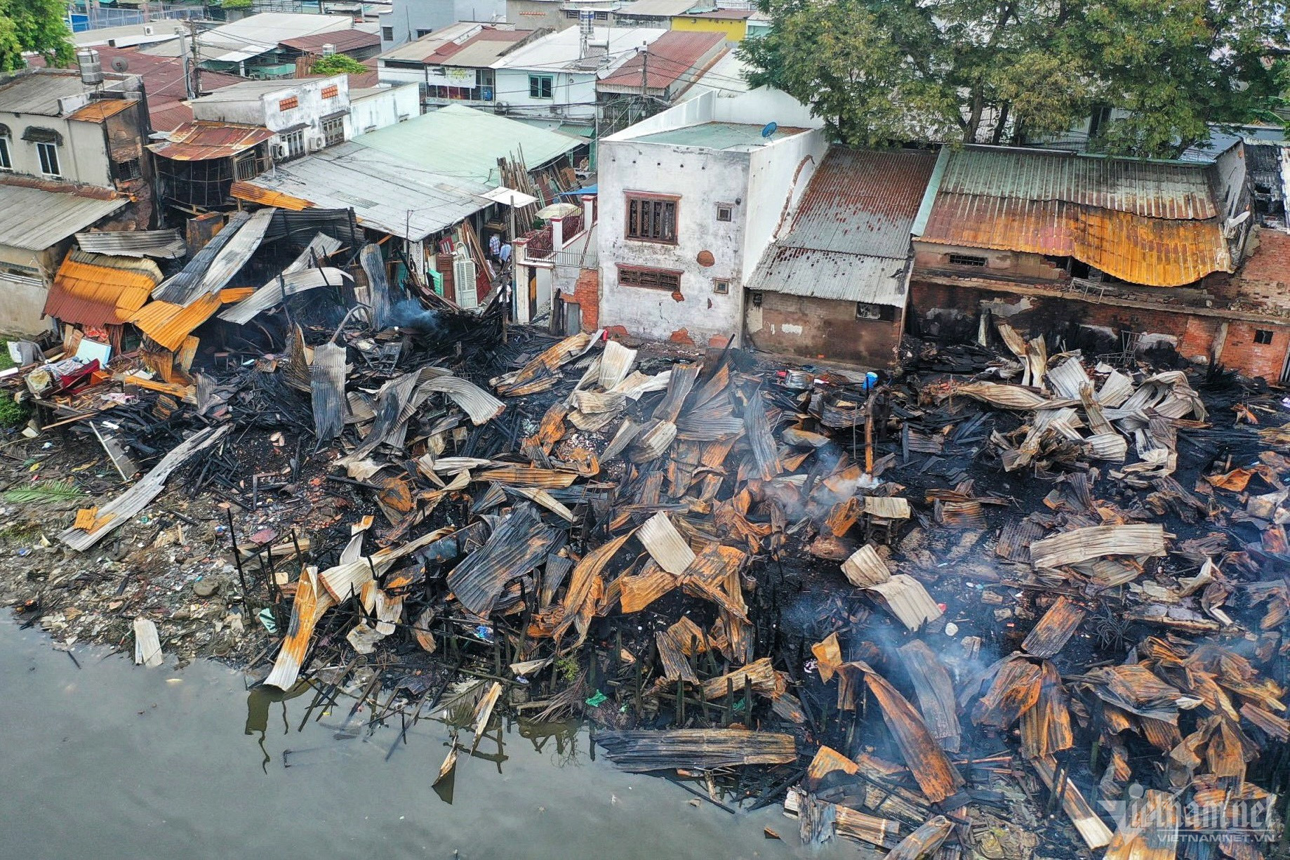
<instances>
[{"instance_id":1,"label":"corrugated roof, rusty above and grey below, right of white two-storey building","mask_svg":"<svg viewBox=\"0 0 1290 860\"><path fill-rule=\"evenodd\" d=\"M903 307L909 231L933 152L829 148L749 289Z\"/></svg>"}]
</instances>

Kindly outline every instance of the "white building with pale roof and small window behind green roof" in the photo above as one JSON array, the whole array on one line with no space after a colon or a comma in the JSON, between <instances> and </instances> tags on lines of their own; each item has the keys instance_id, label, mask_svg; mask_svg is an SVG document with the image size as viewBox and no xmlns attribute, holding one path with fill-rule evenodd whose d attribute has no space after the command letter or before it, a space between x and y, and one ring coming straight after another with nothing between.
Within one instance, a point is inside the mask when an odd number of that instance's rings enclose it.
<instances>
[{"instance_id":1,"label":"white building with pale roof and small window behind green roof","mask_svg":"<svg viewBox=\"0 0 1290 860\"><path fill-rule=\"evenodd\" d=\"M667 30L570 27L531 41L494 66L497 110L524 118L591 123L596 83Z\"/></svg>"}]
</instances>

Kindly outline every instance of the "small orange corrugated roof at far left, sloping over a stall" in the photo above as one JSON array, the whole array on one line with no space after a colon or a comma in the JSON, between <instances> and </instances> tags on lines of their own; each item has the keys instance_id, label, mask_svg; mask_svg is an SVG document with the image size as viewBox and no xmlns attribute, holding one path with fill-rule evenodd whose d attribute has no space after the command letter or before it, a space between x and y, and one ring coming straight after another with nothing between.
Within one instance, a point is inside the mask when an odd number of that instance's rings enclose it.
<instances>
[{"instance_id":1,"label":"small orange corrugated roof at far left, sloping over a stall","mask_svg":"<svg viewBox=\"0 0 1290 860\"><path fill-rule=\"evenodd\" d=\"M45 316L80 325L120 325L161 283L151 260L72 251L54 275Z\"/></svg>"}]
</instances>

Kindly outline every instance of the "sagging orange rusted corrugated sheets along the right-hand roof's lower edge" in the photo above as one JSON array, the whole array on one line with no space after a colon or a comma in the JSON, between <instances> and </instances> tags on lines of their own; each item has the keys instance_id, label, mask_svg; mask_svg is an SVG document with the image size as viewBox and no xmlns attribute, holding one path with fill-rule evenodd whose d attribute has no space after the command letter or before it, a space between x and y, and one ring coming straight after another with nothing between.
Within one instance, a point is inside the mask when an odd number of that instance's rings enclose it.
<instances>
[{"instance_id":1,"label":"sagging orange rusted corrugated sheets along the right-hand roof's lower edge","mask_svg":"<svg viewBox=\"0 0 1290 860\"><path fill-rule=\"evenodd\" d=\"M924 241L1075 257L1112 278L1180 287L1232 258L1218 218L1146 218L1060 200L938 194Z\"/></svg>"}]
</instances>

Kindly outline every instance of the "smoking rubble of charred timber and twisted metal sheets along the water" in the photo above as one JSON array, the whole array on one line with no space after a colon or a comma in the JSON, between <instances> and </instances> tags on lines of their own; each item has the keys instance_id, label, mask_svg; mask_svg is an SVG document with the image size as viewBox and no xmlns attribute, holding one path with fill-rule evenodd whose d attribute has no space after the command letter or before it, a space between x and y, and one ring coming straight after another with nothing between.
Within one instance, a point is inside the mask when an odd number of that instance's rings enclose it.
<instances>
[{"instance_id":1,"label":"smoking rubble of charred timber and twisted metal sheets along the water","mask_svg":"<svg viewBox=\"0 0 1290 860\"><path fill-rule=\"evenodd\" d=\"M344 695L404 739L464 706L440 779L497 715L578 715L626 770L782 801L808 843L1245 860L1280 834L1271 393L1006 325L1009 358L928 349L886 381L676 359L497 305L400 311L370 262L339 322L244 298L276 350L71 395L111 394L89 439L151 465L21 505L50 545L6 573L31 621L141 662L200 628L312 693L306 719ZM79 456L10 493L81 480Z\"/></svg>"}]
</instances>

